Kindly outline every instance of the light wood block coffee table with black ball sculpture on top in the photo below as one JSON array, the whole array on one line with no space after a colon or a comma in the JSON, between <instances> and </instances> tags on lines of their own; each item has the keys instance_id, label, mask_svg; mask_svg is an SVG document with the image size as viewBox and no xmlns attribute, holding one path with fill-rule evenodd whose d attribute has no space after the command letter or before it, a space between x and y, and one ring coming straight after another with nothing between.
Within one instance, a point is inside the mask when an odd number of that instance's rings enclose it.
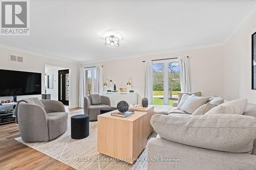
<instances>
[{"instance_id":1,"label":"light wood block coffee table with black ball sculpture on top","mask_svg":"<svg viewBox=\"0 0 256 170\"><path fill-rule=\"evenodd\" d=\"M98 115L97 150L133 163L146 146L148 126L147 112L135 111L128 117L112 116L111 112Z\"/></svg>"}]
</instances>

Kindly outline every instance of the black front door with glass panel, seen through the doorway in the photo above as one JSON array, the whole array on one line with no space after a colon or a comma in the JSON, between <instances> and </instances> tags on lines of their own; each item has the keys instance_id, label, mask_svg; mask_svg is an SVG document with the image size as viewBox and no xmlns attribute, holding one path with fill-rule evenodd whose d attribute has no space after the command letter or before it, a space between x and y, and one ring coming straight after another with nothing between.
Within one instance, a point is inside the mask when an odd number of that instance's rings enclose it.
<instances>
[{"instance_id":1,"label":"black front door with glass panel, seen through the doorway","mask_svg":"<svg viewBox=\"0 0 256 170\"><path fill-rule=\"evenodd\" d=\"M69 69L58 71L58 101L69 105Z\"/></svg>"}]
</instances>

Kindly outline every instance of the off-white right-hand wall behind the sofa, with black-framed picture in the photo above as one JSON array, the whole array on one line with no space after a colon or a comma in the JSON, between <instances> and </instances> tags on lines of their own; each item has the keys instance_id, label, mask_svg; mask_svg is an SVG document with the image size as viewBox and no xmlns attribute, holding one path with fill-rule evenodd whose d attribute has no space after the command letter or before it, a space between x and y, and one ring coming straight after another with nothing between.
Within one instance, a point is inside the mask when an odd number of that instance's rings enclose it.
<instances>
[{"instance_id":1,"label":"off-white right-hand wall behind the sofa, with black-framed picture","mask_svg":"<svg viewBox=\"0 0 256 170\"><path fill-rule=\"evenodd\" d=\"M254 11L224 45L224 97L228 100L247 98L256 103L256 90L251 90L251 35L256 32Z\"/></svg>"}]
</instances>

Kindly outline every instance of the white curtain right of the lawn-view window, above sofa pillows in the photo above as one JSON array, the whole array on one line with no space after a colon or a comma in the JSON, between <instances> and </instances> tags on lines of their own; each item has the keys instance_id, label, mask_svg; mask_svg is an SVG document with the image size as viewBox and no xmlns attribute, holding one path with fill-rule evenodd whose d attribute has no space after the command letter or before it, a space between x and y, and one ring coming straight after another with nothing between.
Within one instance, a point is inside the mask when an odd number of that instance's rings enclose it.
<instances>
[{"instance_id":1,"label":"white curtain right of the lawn-view window, above sofa pillows","mask_svg":"<svg viewBox=\"0 0 256 170\"><path fill-rule=\"evenodd\" d=\"M181 92L190 92L190 80L187 56L179 57Z\"/></svg>"}]
</instances>

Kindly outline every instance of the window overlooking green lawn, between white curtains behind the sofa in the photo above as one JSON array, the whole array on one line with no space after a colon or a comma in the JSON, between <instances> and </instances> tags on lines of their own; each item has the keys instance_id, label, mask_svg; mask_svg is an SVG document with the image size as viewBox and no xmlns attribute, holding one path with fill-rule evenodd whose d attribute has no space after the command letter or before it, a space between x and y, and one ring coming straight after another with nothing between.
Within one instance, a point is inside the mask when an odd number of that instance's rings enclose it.
<instances>
[{"instance_id":1,"label":"window overlooking green lawn, between white curtains behind the sofa","mask_svg":"<svg viewBox=\"0 0 256 170\"><path fill-rule=\"evenodd\" d=\"M173 106L178 101L180 67L177 59L159 60L152 63L153 105Z\"/></svg>"}]
</instances>

